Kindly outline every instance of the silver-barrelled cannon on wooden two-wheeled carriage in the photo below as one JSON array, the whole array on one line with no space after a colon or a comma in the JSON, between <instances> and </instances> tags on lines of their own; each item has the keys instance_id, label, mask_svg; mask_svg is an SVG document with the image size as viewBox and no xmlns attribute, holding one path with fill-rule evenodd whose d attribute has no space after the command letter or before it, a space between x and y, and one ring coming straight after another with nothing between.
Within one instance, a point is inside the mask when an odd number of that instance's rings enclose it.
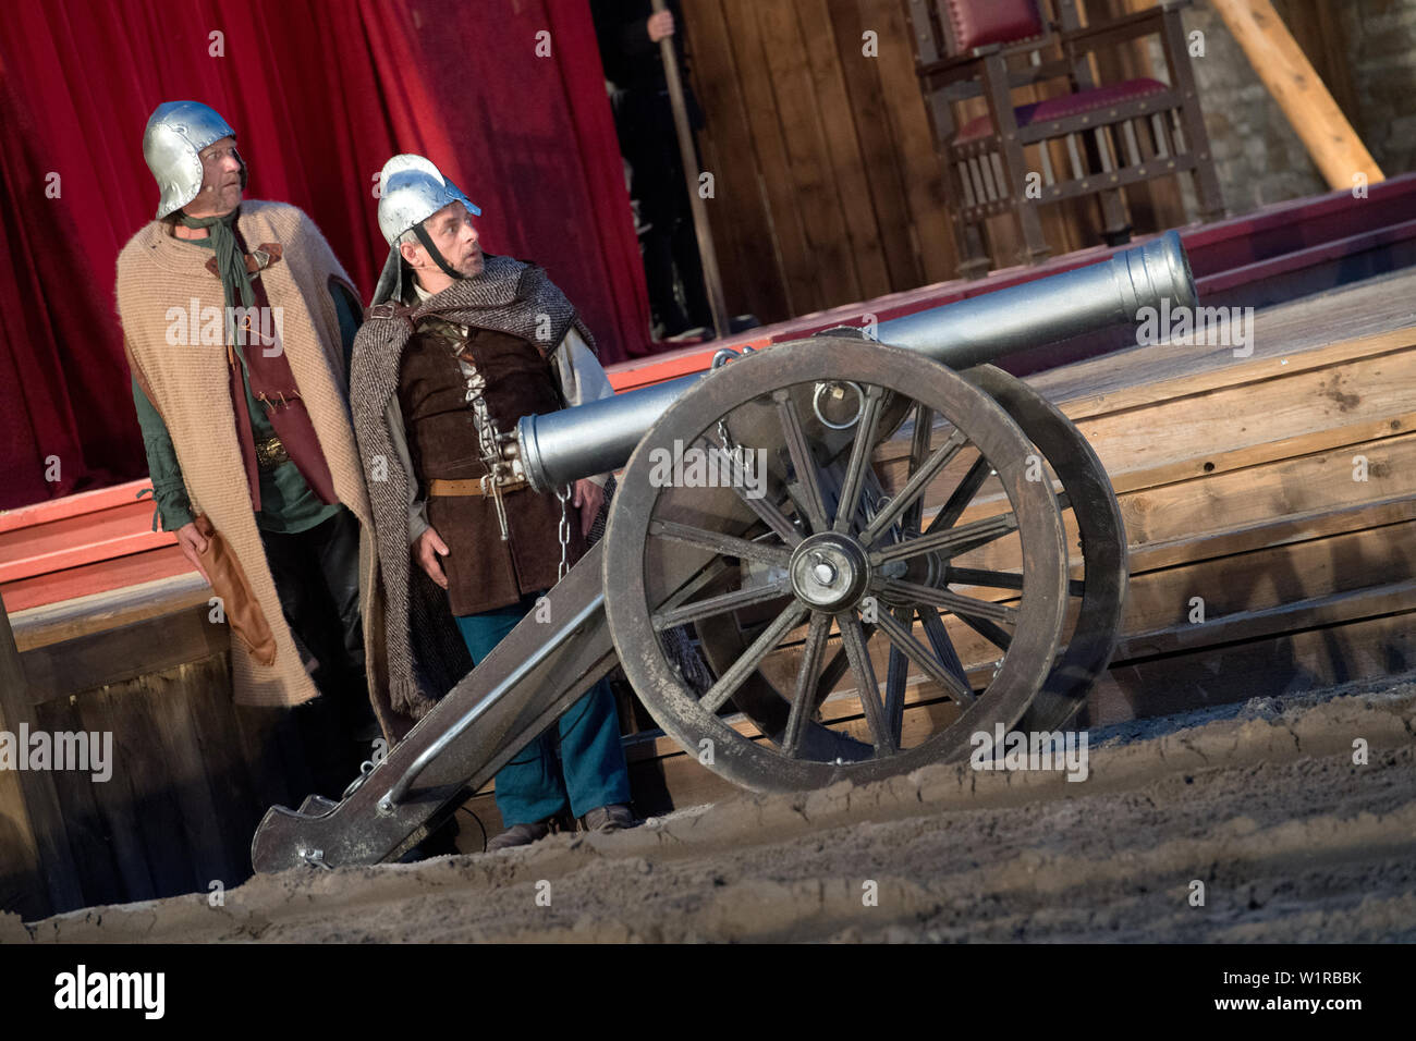
<instances>
[{"instance_id":1,"label":"silver-barrelled cannon on wooden two-wheeled carriage","mask_svg":"<svg viewBox=\"0 0 1416 1041\"><path fill-rule=\"evenodd\" d=\"M523 418L496 465L537 490L623 467L605 538L338 802L272 807L255 870L396 860L616 663L664 734L753 790L1065 727L1114 649L1124 530L1080 432L990 363L1164 299L1197 302L1174 232Z\"/></svg>"}]
</instances>

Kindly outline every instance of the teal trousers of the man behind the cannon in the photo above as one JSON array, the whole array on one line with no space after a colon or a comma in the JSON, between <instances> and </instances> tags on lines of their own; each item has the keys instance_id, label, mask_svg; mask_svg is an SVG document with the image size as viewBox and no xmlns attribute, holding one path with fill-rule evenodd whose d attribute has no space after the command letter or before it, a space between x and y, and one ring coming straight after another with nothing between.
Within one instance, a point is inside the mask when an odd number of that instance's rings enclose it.
<instances>
[{"instance_id":1,"label":"teal trousers of the man behind the cannon","mask_svg":"<svg viewBox=\"0 0 1416 1041\"><path fill-rule=\"evenodd\" d=\"M531 593L508 608L456 616L474 664L481 664L535 608L538 596ZM496 797L507 827L545 820L564 813L566 806L583 817L599 806L629 802L629 769L607 680L590 687L555 725L547 727L497 772Z\"/></svg>"}]
</instances>

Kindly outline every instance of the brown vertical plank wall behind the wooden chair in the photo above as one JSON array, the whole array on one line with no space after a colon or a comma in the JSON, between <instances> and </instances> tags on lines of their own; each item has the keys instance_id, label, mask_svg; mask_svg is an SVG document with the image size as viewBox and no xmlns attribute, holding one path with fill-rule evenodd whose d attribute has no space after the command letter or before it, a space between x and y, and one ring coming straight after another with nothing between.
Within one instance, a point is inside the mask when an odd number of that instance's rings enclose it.
<instances>
[{"instance_id":1,"label":"brown vertical plank wall behind the wooden chair","mask_svg":"<svg viewBox=\"0 0 1416 1041\"><path fill-rule=\"evenodd\" d=\"M1093 17L1151 0L1090 0ZM733 313L780 322L957 276L944 178L901 0L684 0L709 200ZM862 34L878 57L862 54ZM1144 41L1102 55L1097 82L1151 75ZM1020 89L1018 105L1066 89ZM960 106L963 119L986 110ZM1055 157L1058 169L1063 161ZM1184 224L1172 181L1126 188L1137 232ZM1095 201L1044 207L1054 254L1099 241ZM1011 256L1008 218L988 225Z\"/></svg>"}]
</instances>

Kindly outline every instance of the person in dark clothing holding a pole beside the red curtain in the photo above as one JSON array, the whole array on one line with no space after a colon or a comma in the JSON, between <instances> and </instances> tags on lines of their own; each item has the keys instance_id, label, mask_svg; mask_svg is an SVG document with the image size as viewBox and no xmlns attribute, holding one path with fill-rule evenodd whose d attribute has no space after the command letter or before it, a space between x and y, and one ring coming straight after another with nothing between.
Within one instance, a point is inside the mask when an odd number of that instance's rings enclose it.
<instances>
[{"instance_id":1,"label":"person in dark clothing holding a pole beside the red curtain","mask_svg":"<svg viewBox=\"0 0 1416 1041\"><path fill-rule=\"evenodd\" d=\"M630 195L639 200L639 217L649 225L641 239L644 280L656 334L663 336L712 326L658 47L670 37L680 68L685 68L683 37L675 31L677 8L673 1L668 10L654 14L649 0L595 0L590 6L605 78L613 85L620 154L632 167ZM684 96L690 125L698 130L702 112L687 82Z\"/></svg>"}]
</instances>

